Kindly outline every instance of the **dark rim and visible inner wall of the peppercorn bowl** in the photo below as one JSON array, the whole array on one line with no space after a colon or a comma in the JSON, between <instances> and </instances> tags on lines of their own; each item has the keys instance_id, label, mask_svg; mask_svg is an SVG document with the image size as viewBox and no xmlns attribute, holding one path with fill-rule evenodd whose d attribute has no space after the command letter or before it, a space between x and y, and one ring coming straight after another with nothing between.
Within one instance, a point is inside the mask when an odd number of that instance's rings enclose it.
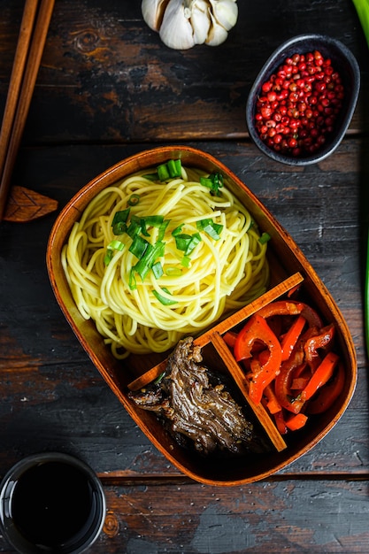
<instances>
[{"instance_id":1,"label":"dark rim and visible inner wall of the peppercorn bowl","mask_svg":"<svg viewBox=\"0 0 369 554\"><path fill-rule=\"evenodd\" d=\"M345 59L348 62L348 65L350 66L350 70L351 70L350 71L351 79L354 86L350 90L350 100L347 104L347 112L344 118L342 119L340 127L338 127L337 129L337 133L334 140L332 142L329 142L327 146L323 147L321 150L312 154L311 156L305 156L304 158L293 158L291 156L287 156L270 149L265 144L265 142L263 142L260 139L257 131L255 130L255 126L253 125L253 118L255 113L254 100L257 96L257 93L261 87L262 82L265 81L268 74L270 75L271 73L273 73L275 68L281 65L281 60L277 63L277 59L280 58L283 52L287 51L293 46L296 46L298 44L303 44L306 41L321 43L323 47L326 46L327 48L333 47L334 52L338 52L341 58ZM345 135L350 125L352 116L355 112L359 89L360 89L360 68L357 63L357 59L355 58L351 50L345 44L343 44L343 42L339 41L338 39L332 36L322 35L322 34L312 33L312 34L293 36L289 38L287 41L282 42L281 45L273 51L273 53L269 56L269 58L266 59L265 64L258 72L258 75L255 78L250 88L249 96L246 102L246 124L248 127L250 138L256 144L258 149L261 150L266 156L268 156L269 158L273 158L273 160L281 162L282 164L287 164L287 165L316 164L322 161L323 159L327 158L328 156L330 156L334 152L334 150L336 150L336 148L339 146L340 142L342 142L343 136Z\"/></svg>"}]
</instances>

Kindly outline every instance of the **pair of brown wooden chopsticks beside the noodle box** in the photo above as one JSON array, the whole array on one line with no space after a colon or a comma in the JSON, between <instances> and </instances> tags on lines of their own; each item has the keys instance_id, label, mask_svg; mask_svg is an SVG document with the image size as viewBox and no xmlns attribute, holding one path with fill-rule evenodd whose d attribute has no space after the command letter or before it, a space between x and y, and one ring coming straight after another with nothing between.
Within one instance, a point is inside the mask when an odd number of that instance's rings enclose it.
<instances>
[{"instance_id":1,"label":"pair of brown wooden chopsticks beside the noodle box","mask_svg":"<svg viewBox=\"0 0 369 554\"><path fill-rule=\"evenodd\" d=\"M23 216L23 219L6 217L6 205L53 8L54 0L26 0L0 131L0 221L26 220ZM31 196L31 200L32 196L41 196L22 187L16 189L18 195L24 193L25 197Z\"/></svg>"}]
</instances>

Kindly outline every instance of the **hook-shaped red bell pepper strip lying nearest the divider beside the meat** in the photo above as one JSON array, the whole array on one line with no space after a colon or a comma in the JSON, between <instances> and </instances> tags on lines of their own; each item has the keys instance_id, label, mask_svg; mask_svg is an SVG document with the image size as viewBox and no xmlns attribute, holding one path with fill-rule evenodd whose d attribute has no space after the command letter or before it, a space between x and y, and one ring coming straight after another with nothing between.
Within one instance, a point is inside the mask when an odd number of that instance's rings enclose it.
<instances>
[{"instance_id":1,"label":"hook-shaped red bell pepper strip lying nearest the divider beside the meat","mask_svg":"<svg viewBox=\"0 0 369 554\"><path fill-rule=\"evenodd\" d=\"M281 371L281 343L260 315L253 315L242 328L234 344L234 358L237 362L252 357L255 344L264 343L269 350L269 357L264 365L258 359L251 360L249 394L255 404L259 404L265 387Z\"/></svg>"}]
</instances>

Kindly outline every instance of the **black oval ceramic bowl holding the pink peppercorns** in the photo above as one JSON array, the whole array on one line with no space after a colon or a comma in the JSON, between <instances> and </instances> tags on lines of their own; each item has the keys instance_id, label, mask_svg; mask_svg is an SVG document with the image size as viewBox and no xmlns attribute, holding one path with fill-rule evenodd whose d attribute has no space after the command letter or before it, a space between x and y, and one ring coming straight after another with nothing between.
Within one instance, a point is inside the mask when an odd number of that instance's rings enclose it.
<instances>
[{"instance_id":1,"label":"black oval ceramic bowl holding the pink peppercorns","mask_svg":"<svg viewBox=\"0 0 369 554\"><path fill-rule=\"evenodd\" d=\"M257 109L258 97L262 93L262 85L265 81L276 73L280 65L286 58L294 54L307 54L314 50L319 50L323 58L330 58L334 70L338 72L342 79L344 88L344 98L342 107L334 121L334 129L326 137L326 142L312 154L301 154L294 156L284 154L281 151L273 150L258 135L255 127L255 115ZM284 42L272 56L266 61L265 65L258 73L258 77L250 89L246 105L246 122L249 128L251 139L258 148L270 158L288 165L309 165L327 158L342 141L342 138L350 125L350 120L357 104L357 96L360 88L360 71L357 60L350 50L342 44L326 35L299 35Z\"/></svg>"}]
</instances>

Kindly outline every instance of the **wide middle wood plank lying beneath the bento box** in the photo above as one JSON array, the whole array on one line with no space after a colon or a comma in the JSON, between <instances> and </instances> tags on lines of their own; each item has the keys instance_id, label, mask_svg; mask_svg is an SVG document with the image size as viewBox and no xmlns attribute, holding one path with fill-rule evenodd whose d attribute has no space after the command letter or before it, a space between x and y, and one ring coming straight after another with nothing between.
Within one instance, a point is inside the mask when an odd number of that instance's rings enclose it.
<instances>
[{"instance_id":1,"label":"wide middle wood plank lying beneath the bento box","mask_svg":"<svg viewBox=\"0 0 369 554\"><path fill-rule=\"evenodd\" d=\"M296 238L341 308L357 347L358 386L348 411L322 442L282 473L367 473L368 382L358 217L361 180L367 173L360 165L359 142L343 142L334 157L317 166L283 172L248 143L193 145L221 158ZM23 149L17 180L42 194L52 192L61 209L105 167L144 148ZM106 387L58 309L44 265L55 217L0 226L0 378L6 383L0 407L0 473L21 455L48 448L80 453L102 473L176 473Z\"/></svg>"}]
</instances>

